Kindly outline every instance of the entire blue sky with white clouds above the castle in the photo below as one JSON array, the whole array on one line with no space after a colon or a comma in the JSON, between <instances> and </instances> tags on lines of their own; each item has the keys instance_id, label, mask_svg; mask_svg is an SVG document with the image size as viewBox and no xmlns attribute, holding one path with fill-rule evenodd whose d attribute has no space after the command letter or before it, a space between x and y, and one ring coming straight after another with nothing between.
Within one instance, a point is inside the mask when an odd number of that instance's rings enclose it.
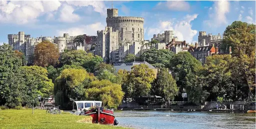
<instances>
[{"instance_id":1,"label":"entire blue sky with white clouds above the castle","mask_svg":"<svg viewBox=\"0 0 256 129\"><path fill-rule=\"evenodd\" d=\"M0 1L0 44L7 34L32 37L69 33L96 35L106 26L111 1ZM223 33L235 20L255 24L255 1L113 1L119 16L144 17L144 39L173 30L179 40L197 42L199 31Z\"/></svg>"}]
</instances>

